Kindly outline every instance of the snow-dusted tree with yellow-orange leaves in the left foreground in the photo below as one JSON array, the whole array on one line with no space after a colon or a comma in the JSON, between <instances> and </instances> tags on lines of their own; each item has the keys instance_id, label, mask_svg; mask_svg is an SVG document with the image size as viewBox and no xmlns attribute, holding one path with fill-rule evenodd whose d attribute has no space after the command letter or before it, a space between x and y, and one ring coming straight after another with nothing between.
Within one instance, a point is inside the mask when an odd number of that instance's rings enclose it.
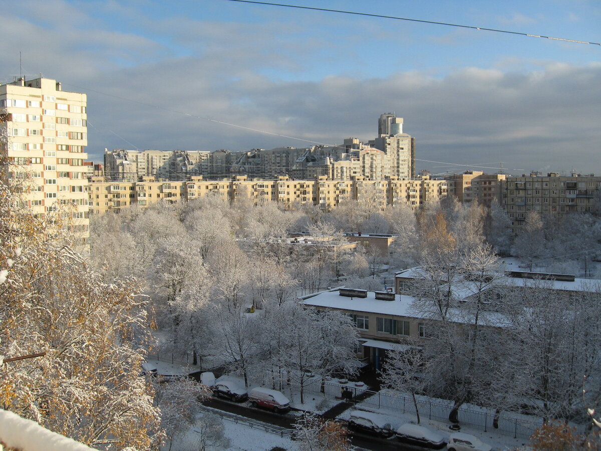
<instances>
[{"instance_id":1,"label":"snow-dusted tree with yellow-orange leaves in the left foreground","mask_svg":"<svg viewBox=\"0 0 601 451\"><path fill-rule=\"evenodd\" d=\"M107 450L160 441L153 388L139 375L145 299L132 281L105 284L57 227L22 207L0 157L0 405ZM60 224L55 224L59 226Z\"/></svg>"}]
</instances>

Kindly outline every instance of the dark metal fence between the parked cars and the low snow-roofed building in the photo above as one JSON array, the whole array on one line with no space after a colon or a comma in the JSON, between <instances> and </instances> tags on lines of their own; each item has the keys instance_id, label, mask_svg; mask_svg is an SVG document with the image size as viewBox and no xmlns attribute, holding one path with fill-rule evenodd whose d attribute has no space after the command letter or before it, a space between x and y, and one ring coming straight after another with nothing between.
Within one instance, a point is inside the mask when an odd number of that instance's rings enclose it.
<instances>
[{"instance_id":1,"label":"dark metal fence between the parked cars and the low snow-roofed building","mask_svg":"<svg viewBox=\"0 0 601 451\"><path fill-rule=\"evenodd\" d=\"M301 389L299 384L294 382L290 384L290 388L293 390ZM382 393L381 391L365 390L361 387L353 387L350 384L347 386L334 382L325 382L322 385L321 382L314 381L304 387L306 394L318 394L331 399L343 399L343 390L350 390L353 397L347 399L359 406L416 415L413 399L406 394ZM450 423L448 418L451 410L453 410L452 403L418 399L417 405L419 416L422 418ZM459 408L459 423L481 429L484 432L495 431L499 434L511 435L514 438L529 438L534 430L543 424L542 420L520 419L504 412L495 415L495 411L492 410L474 410L466 407Z\"/></svg>"}]
</instances>

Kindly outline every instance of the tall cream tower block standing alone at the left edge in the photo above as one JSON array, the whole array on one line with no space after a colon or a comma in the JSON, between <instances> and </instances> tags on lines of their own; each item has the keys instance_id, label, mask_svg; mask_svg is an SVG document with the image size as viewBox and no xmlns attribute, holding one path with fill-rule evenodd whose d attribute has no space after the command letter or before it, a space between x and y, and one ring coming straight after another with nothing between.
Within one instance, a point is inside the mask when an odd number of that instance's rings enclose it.
<instances>
[{"instance_id":1,"label":"tall cream tower block standing alone at the left edge","mask_svg":"<svg viewBox=\"0 0 601 451\"><path fill-rule=\"evenodd\" d=\"M49 78L0 85L4 149L11 175L27 180L25 201L38 218L57 213L82 240L88 232L87 96Z\"/></svg>"}]
</instances>

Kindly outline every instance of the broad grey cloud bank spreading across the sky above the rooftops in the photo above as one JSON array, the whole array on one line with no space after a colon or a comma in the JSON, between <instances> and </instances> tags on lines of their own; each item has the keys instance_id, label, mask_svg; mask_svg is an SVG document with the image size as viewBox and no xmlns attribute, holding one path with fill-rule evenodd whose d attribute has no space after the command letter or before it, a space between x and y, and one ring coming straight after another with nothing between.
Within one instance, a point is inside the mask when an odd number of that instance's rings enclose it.
<instances>
[{"instance_id":1,"label":"broad grey cloud bank spreading across the sky above the rooftops","mask_svg":"<svg viewBox=\"0 0 601 451\"><path fill-rule=\"evenodd\" d=\"M28 11L38 4L27 2ZM53 4L66 11L64 2ZM77 20L65 23L58 17L63 13L45 22L41 13L5 17L0 40L13 52L0 54L0 67L7 70L4 79L17 73L23 49L26 69L87 93L94 161L101 161L105 147L132 144L162 150L310 145L249 129L327 144L347 137L367 141L377 133L379 115L395 111L416 138L418 160L601 172L601 93L595 88L601 64L511 57L495 69L472 64L438 77L429 69L410 70L410 64L374 76L362 66L387 65L395 55L359 60L357 49L346 51L345 41L325 28L307 38L301 26L277 20L152 19L118 2L80 5L73 10ZM135 20L138 29L109 26L111 17ZM361 45L358 30L352 31L347 38ZM389 31L373 34L370 44ZM356 70L332 69L349 58ZM411 58L404 53L400 60ZM307 64L325 60L330 64L320 76L304 78ZM280 70L299 76L273 76ZM418 168L431 167L418 161Z\"/></svg>"}]
</instances>

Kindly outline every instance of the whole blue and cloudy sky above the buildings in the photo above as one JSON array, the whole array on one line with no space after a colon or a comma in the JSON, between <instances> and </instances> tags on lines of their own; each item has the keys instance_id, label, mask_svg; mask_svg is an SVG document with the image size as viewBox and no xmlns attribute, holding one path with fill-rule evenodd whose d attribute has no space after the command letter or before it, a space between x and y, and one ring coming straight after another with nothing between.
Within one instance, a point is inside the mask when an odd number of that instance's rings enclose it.
<instances>
[{"instance_id":1,"label":"whole blue and cloudy sky above the buildings","mask_svg":"<svg viewBox=\"0 0 601 451\"><path fill-rule=\"evenodd\" d=\"M279 2L601 43L598 0ZM417 170L601 174L599 45L229 0L5 3L0 81L87 93L96 162L367 142L395 112Z\"/></svg>"}]
</instances>

